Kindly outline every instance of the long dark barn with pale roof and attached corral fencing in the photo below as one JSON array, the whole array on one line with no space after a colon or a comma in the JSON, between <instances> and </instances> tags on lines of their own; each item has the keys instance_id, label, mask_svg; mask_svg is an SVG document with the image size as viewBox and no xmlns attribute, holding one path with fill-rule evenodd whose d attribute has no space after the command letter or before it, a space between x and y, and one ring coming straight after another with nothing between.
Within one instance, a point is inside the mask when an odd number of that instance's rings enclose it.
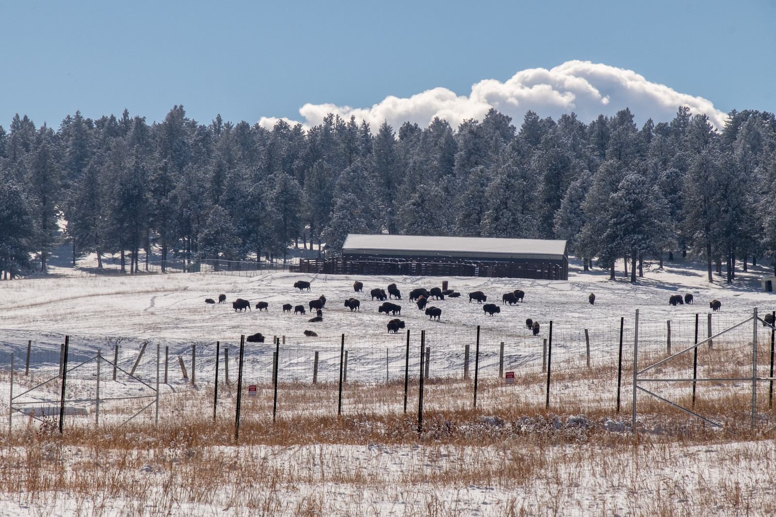
<instances>
[{"instance_id":1,"label":"long dark barn with pale roof and attached corral fencing","mask_svg":"<svg viewBox=\"0 0 776 517\"><path fill-rule=\"evenodd\" d=\"M567 280L569 255L566 241L349 234L341 256L300 261L300 272Z\"/></svg>"}]
</instances>

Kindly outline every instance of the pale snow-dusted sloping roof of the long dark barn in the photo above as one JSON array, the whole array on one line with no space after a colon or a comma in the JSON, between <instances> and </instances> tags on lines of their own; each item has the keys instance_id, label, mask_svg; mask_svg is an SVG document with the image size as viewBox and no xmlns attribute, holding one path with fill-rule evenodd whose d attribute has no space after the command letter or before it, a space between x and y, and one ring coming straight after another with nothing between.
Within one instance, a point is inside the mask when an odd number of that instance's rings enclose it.
<instances>
[{"instance_id":1,"label":"pale snow-dusted sloping roof of the long dark barn","mask_svg":"<svg viewBox=\"0 0 776 517\"><path fill-rule=\"evenodd\" d=\"M348 234L343 252L468 252L476 255L564 255L566 241L425 235Z\"/></svg>"}]
</instances>

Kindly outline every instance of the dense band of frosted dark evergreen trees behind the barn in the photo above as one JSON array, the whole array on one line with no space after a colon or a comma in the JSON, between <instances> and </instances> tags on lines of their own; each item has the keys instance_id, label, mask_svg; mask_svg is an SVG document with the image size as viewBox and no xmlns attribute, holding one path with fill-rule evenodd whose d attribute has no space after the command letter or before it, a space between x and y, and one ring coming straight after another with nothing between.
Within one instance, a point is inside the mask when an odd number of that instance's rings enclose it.
<instances>
[{"instance_id":1,"label":"dense band of frosted dark evergreen trees behind the barn","mask_svg":"<svg viewBox=\"0 0 776 517\"><path fill-rule=\"evenodd\" d=\"M628 109L590 124L528 112L517 130L493 109L454 128L398 130L328 116L161 123L75 113L57 130L16 116L0 127L0 270L140 250L162 261L261 260L289 246L338 252L348 233L563 238L585 267L692 252L728 281L736 259L776 259L776 120L730 113L722 130L678 109L639 128ZM67 221L58 236L61 221Z\"/></svg>"}]
</instances>

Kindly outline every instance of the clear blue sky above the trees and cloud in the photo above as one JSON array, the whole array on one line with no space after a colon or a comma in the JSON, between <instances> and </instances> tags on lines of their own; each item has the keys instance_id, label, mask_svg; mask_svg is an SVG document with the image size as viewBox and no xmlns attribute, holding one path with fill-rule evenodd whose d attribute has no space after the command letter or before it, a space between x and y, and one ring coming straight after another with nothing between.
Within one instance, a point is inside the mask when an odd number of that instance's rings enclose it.
<instances>
[{"instance_id":1,"label":"clear blue sky above the trees and cloud","mask_svg":"<svg viewBox=\"0 0 776 517\"><path fill-rule=\"evenodd\" d=\"M68 113L301 120L592 61L716 109L776 111L776 0L2 2L0 124Z\"/></svg>"}]
</instances>

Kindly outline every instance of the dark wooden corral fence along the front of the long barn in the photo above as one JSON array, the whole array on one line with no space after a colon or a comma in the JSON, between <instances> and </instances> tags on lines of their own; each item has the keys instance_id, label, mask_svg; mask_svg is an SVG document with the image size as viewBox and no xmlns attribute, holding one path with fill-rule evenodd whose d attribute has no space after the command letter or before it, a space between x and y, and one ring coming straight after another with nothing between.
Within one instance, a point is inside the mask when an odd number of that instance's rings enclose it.
<instances>
[{"instance_id":1,"label":"dark wooden corral fence along the front of the long barn","mask_svg":"<svg viewBox=\"0 0 776 517\"><path fill-rule=\"evenodd\" d=\"M291 272L334 275L496 276L563 280L563 265L516 262L417 262L397 260L300 259Z\"/></svg>"}]
</instances>

